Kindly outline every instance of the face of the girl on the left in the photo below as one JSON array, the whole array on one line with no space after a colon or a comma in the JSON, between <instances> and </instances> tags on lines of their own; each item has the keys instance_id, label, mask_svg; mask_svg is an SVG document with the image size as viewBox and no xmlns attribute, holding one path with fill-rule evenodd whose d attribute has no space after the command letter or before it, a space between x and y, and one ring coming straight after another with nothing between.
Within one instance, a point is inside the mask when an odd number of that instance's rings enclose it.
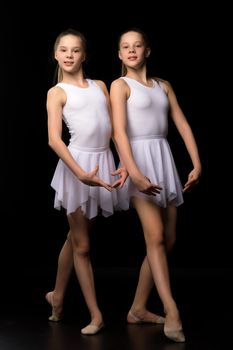
<instances>
[{"instance_id":1,"label":"face of the girl on the left","mask_svg":"<svg viewBox=\"0 0 233 350\"><path fill-rule=\"evenodd\" d=\"M77 72L85 61L82 39L72 34L63 36L55 51L55 58L63 71Z\"/></svg>"}]
</instances>

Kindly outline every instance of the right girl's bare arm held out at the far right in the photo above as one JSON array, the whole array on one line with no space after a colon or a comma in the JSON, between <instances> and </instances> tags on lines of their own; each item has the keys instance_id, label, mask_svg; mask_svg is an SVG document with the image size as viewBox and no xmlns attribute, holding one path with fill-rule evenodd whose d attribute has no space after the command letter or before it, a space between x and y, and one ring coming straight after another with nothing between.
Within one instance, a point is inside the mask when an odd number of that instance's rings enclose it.
<instances>
[{"instance_id":1,"label":"right girl's bare arm held out at the far right","mask_svg":"<svg viewBox=\"0 0 233 350\"><path fill-rule=\"evenodd\" d=\"M201 161L198 153L197 144L191 130L191 127L182 112L176 95L172 89L172 86L169 82L162 82L164 89L167 93L168 100L170 103L170 114L176 125L178 132L180 133L187 151L190 155L191 161L193 163L193 170L188 175L188 181L184 184L183 191L186 192L190 190L194 185L199 182L201 176Z\"/></svg>"}]
</instances>

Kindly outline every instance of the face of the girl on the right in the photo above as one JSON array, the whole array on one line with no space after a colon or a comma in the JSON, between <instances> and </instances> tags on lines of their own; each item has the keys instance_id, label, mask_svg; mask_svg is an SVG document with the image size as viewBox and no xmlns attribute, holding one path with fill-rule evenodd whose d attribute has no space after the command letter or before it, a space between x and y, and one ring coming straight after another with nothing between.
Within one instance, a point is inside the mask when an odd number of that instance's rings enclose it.
<instances>
[{"instance_id":1,"label":"face of the girl on the right","mask_svg":"<svg viewBox=\"0 0 233 350\"><path fill-rule=\"evenodd\" d=\"M127 32L122 35L118 55L127 68L141 67L145 62L149 49L145 47L142 35L137 32Z\"/></svg>"}]
</instances>

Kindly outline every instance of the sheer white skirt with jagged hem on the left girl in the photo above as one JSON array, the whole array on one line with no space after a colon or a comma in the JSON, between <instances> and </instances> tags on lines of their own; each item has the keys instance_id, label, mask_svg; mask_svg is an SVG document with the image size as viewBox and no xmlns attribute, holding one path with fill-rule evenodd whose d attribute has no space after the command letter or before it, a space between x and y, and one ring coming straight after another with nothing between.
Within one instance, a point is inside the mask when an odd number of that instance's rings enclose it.
<instances>
[{"instance_id":1,"label":"sheer white skirt with jagged hem on the left girl","mask_svg":"<svg viewBox=\"0 0 233 350\"><path fill-rule=\"evenodd\" d=\"M68 147L73 158L80 167L86 172L92 171L96 165L99 165L97 175L105 182L112 184L117 177L111 173L116 169L113 154L109 147L88 149ZM54 208L60 210L66 209L67 215L81 208L83 214L91 219L99 212L107 217L114 213L114 210L120 210L118 193L116 189L109 192L104 187L88 186L82 183L72 171L60 159L55 169L51 186L56 191L54 199Z\"/></svg>"}]
</instances>

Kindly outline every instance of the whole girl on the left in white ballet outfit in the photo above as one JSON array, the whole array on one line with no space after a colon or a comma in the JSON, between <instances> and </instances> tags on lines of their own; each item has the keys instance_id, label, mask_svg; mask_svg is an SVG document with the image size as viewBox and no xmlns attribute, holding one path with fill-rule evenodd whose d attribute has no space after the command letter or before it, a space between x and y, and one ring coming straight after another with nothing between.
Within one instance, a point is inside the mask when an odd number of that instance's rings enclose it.
<instances>
[{"instance_id":1,"label":"whole girl on the left in white ballet outfit","mask_svg":"<svg viewBox=\"0 0 233 350\"><path fill-rule=\"evenodd\" d=\"M49 320L61 320L74 267L91 315L90 324L81 332L95 334L104 322L89 258L89 224L98 212L109 216L119 208L113 187L122 186L127 173L124 169L116 171L109 148L112 129L107 88L102 81L84 77L84 36L72 29L62 32L55 41L54 54L59 83L47 95L48 135L49 145L60 159L51 185L55 190L54 206L65 208L70 231L59 255L54 290L46 294L46 300L52 307ZM63 121L70 133L68 146L62 140Z\"/></svg>"}]
</instances>

